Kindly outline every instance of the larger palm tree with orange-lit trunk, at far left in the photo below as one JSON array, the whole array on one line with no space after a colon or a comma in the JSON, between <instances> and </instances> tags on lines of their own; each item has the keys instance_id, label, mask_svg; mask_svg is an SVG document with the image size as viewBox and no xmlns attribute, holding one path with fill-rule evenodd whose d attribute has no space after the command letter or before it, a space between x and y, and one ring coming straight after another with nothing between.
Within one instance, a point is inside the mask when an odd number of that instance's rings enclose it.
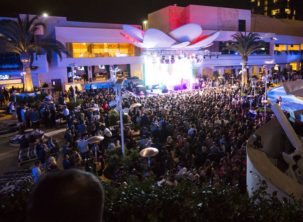
<instances>
[{"instance_id":1,"label":"larger palm tree with orange-lit trunk, at far left","mask_svg":"<svg viewBox=\"0 0 303 222\"><path fill-rule=\"evenodd\" d=\"M43 22L34 24L39 17L36 15L30 20L29 15L26 15L25 19L19 16L18 21L7 19L0 21L0 53L13 52L20 56L25 73L24 91L26 92L34 91L31 65L36 50L44 49L49 58L52 58L52 52L55 52L60 60L62 60L62 53L68 55L65 46L50 35L34 41L34 35L39 30L39 26L46 28Z\"/></svg>"}]
</instances>

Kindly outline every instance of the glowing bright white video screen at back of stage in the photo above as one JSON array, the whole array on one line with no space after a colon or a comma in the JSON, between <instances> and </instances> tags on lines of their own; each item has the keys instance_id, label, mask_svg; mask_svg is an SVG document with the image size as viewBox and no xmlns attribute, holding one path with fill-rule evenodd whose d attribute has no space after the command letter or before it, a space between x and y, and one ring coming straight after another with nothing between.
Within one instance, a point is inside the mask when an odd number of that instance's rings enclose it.
<instances>
[{"instance_id":1,"label":"glowing bright white video screen at back of stage","mask_svg":"<svg viewBox=\"0 0 303 222\"><path fill-rule=\"evenodd\" d=\"M145 85L163 84L168 88L180 84L181 79L190 79L192 84L192 60L182 58L175 59L173 64L161 64L159 59L155 63L148 61L145 63ZM188 86L189 87L189 86Z\"/></svg>"}]
</instances>

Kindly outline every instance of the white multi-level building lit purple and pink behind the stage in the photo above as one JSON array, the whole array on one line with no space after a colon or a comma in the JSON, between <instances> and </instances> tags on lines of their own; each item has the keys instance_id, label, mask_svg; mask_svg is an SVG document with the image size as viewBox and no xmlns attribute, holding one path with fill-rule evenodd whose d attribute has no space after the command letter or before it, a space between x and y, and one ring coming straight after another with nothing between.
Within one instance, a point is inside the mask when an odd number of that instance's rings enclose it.
<instances>
[{"instance_id":1,"label":"white multi-level building lit purple and pink behind the stage","mask_svg":"<svg viewBox=\"0 0 303 222\"><path fill-rule=\"evenodd\" d=\"M25 15L20 15L24 18ZM32 17L32 16L31 16ZM15 18L0 18L15 19ZM128 72L130 76L144 78L141 59L142 49L132 45L122 34L122 24L71 22L65 17L40 17L36 22L44 22L47 29L39 31L38 35L52 35L66 46L70 56L63 55L62 61L53 54L51 61L42 52L37 52L33 61L33 85L41 87L45 82L61 91L69 85L67 73L68 64L76 63L80 70L76 75L82 76L88 72L88 79L93 73L106 72L106 67L119 65L121 72ZM255 55L248 56L248 75L262 72L262 65L279 71L292 68L299 71L303 52L303 22L274 19L263 15L251 14L250 10L220 8L201 5L187 7L168 6L148 14L148 22L143 27L158 28L167 33L187 23L196 23L201 26L202 35L210 35L214 31L222 30L215 39L214 45L205 48L211 52L221 52L226 41L236 31L258 33L266 42L269 50L261 50ZM133 25L142 28L140 25ZM289 34L289 35L288 35ZM219 75L225 72L235 73L241 69L241 56L234 52L222 51L218 58L206 57L198 63L193 63L193 73L202 73L211 76L214 71ZM0 75L9 75L10 80L0 80L0 87L22 84L20 70L13 70L12 66L2 65ZM85 70L83 70L83 68ZM82 70L81 70L82 69ZM277 68L276 68L277 69ZM113 73L109 73L111 77ZM143 79L142 79L143 80ZM83 83L83 82L81 82Z\"/></svg>"}]
</instances>

